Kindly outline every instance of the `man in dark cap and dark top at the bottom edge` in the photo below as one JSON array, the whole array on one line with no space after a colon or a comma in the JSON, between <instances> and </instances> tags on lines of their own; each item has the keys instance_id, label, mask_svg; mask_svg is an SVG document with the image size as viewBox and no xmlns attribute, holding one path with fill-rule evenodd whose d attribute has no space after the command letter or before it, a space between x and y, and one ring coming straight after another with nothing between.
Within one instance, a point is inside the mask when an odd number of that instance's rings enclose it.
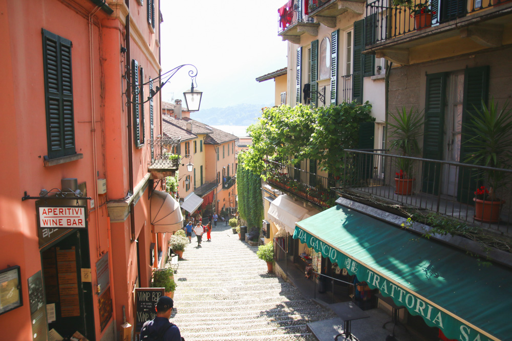
<instances>
[{"instance_id":1,"label":"man in dark cap and dark top at the bottom edge","mask_svg":"<svg viewBox=\"0 0 512 341\"><path fill-rule=\"evenodd\" d=\"M169 322L173 312L173 299L160 296L157 301L155 319L146 321L140 330L140 340L181 341L180 329Z\"/></svg>"}]
</instances>

